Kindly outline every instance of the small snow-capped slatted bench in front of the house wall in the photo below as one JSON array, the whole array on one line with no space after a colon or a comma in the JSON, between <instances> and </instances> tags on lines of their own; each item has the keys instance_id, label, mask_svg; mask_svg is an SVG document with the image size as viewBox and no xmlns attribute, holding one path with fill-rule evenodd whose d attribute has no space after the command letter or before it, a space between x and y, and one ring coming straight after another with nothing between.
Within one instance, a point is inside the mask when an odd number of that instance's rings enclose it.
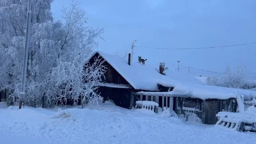
<instances>
[{"instance_id":1,"label":"small snow-capped slatted bench in front of the house wall","mask_svg":"<svg viewBox=\"0 0 256 144\"><path fill-rule=\"evenodd\" d=\"M141 108L146 110L152 110L155 111L155 113L158 113L158 107L159 104L155 101L136 101L135 108Z\"/></svg>"}]
</instances>

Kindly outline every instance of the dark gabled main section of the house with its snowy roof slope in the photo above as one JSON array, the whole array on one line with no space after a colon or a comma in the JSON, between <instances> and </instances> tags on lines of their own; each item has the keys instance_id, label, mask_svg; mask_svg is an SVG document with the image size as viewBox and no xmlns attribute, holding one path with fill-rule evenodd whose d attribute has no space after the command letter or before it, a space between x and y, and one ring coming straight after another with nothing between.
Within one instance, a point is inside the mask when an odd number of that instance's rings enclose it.
<instances>
[{"instance_id":1,"label":"dark gabled main section of the house with its snowy roof slope","mask_svg":"<svg viewBox=\"0 0 256 144\"><path fill-rule=\"evenodd\" d=\"M132 93L138 91L164 91L157 84L159 80L169 79L160 74L152 67L142 67L138 62L125 62L121 58L109 55L103 52L95 52L88 59L88 62L93 63L94 58L100 55L105 60L103 65L106 67L104 80L97 84L100 86L98 92L106 100L110 98L117 106L131 109L134 104L131 103ZM171 80L171 79L169 79Z\"/></svg>"}]
</instances>

